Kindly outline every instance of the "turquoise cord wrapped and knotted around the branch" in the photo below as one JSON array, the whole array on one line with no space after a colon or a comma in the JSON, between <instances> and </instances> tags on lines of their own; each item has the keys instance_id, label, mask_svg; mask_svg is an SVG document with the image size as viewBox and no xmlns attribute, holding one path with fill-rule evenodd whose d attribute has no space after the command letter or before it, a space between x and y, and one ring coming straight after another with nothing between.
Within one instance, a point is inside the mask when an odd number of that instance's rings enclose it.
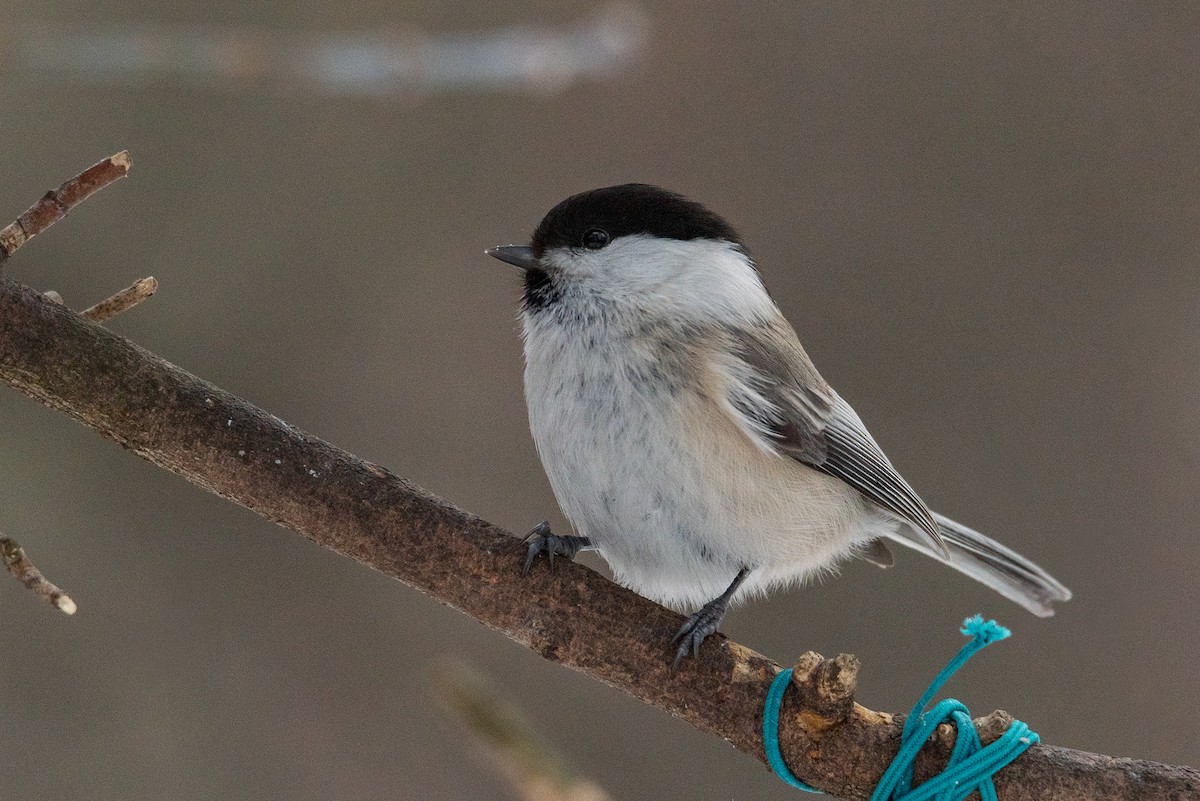
<instances>
[{"instance_id":1,"label":"turquoise cord wrapped and knotted around the branch","mask_svg":"<svg viewBox=\"0 0 1200 801\"><path fill-rule=\"evenodd\" d=\"M1038 742L1039 737L1036 731L1032 731L1021 721L1013 721L998 740L984 747L979 740L979 733L976 731L974 722L971 719L971 712L961 701L953 698L938 701L934 709L925 711L942 685L949 681L950 676L966 664L967 660L1010 634L995 620L984 621L980 615L962 621L961 632L970 637L971 642L964 645L958 656L942 668L942 671L929 685L925 694L912 707L905 721L904 733L900 735L900 752L892 760L883 778L880 779L875 793L871 794L871 801L962 801L976 790L979 790L983 801L998 801L996 785L991 781L992 776L1021 755L1026 748ZM762 721L762 739L767 749L767 761L775 775L792 787L806 793L820 793L816 788L798 779L788 770L784 755L779 751L779 709L791 680L792 671L781 670L767 693ZM941 773L913 787L912 766L917 754L937 727L947 721L952 721L959 730L959 736L950 752L950 761Z\"/></svg>"}]
</instances>

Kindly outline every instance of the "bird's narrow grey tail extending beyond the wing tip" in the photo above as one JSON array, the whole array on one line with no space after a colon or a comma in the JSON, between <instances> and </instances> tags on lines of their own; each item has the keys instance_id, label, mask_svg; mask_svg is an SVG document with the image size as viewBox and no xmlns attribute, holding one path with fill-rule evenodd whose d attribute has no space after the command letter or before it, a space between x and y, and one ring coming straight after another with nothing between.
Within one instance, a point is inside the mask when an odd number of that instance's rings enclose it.
<instances>
[{"instance_id":1,"label":"bird's narrow grey tail extending beyond the wing tip","mask_svg":"<svg viewBox=\"0 0 1200 801\"><path fill-rule=\"evenodd\" d=\"M990 586L1039 618L1052 615L1056 601L1070 598L1070 590L1061 582L1012 548L942 514L935 513L934 519L949 550L948 555L929 547L926 538L911 532L908 526L901 526L890 536L896 542Z\"/></svg>"}]
</instances>

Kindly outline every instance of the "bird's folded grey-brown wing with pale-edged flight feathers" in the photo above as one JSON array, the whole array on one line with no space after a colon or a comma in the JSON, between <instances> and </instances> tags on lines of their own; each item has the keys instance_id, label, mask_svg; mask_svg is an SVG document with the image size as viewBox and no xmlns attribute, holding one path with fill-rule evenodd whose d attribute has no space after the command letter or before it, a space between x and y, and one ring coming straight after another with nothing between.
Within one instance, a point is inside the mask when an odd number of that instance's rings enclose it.
<instances>
[{"instance_id":1,"label":"bird's folded grey-brown wing with pale-edged flight feathers","mask_svg":"<svg viewBox=\"0 0 1200 801\"><path fill-rule=\"evenodd\" d=\"M791 326L731 331L744 366L731 404L775 450L840 478L911 523L946 554L934 514L908 486L848 403L826 384Z\"/></svg>"}]
</instances>

